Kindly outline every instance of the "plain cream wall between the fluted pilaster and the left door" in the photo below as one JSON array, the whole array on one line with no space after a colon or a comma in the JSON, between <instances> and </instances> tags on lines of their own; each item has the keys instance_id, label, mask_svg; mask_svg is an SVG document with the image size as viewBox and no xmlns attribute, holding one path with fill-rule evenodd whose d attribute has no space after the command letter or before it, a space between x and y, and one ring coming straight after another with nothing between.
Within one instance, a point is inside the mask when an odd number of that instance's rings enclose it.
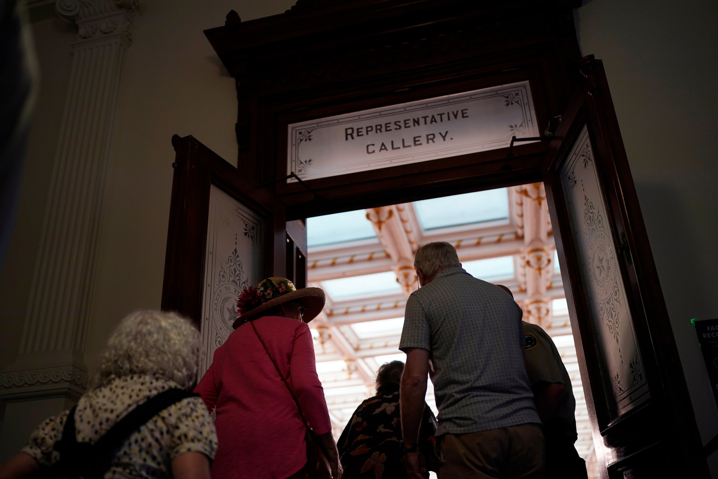
<instances>
[{"instance_id":1,"label":"plain cream wall between the fluted pilaster and the left door","mask_svg":"<svg viewBox=\"0 0 718 479\"><path fill-rule=\"evenodd\" d=\"M172 193L172 135L193 135L237 162L233 78L204 29L231 9L243 21L279 14L292 0L142 0L121 90L118 132L93 294L85 363L90 376L127 313L159 309Z\"/></svg>"}]
</instances>

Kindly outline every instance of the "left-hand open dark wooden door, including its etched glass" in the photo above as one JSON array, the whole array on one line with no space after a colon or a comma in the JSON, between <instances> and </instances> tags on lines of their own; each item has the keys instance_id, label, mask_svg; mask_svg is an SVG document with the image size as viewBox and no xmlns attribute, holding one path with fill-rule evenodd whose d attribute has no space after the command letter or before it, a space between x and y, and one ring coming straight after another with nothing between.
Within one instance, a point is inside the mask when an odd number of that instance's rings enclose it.
<instances>
[{"instance_id":1,"label":"left-hand open dark wooden door, including its etched glass","mask_svg":"<svg viewBox=\"0 0 718 479\"><path fill-rule=\"evenodd\" d=\"M241 290L286 274L286 215L272 193L197 139L175 135L172 145L162 310L197 325L201 374L232 332Z\"/></svg>"}]
</instances>

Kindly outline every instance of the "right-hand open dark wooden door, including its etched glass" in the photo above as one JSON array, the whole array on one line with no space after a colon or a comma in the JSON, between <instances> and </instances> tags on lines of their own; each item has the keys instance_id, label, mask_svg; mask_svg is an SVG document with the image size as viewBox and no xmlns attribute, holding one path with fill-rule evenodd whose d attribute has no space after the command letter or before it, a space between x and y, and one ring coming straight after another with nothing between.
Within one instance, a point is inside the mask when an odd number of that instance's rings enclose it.
<instances>
[{"instance_id":1,"label":"right-hand open dark wooden door, including its etched glass","mask_svg":"<svg viewBox=\"0 0 718 479\"><path fill-rule=\"evenodd\" d=\"M707 478L603 65L542 165L603 478Z\"/></svg>"}]
</instances>

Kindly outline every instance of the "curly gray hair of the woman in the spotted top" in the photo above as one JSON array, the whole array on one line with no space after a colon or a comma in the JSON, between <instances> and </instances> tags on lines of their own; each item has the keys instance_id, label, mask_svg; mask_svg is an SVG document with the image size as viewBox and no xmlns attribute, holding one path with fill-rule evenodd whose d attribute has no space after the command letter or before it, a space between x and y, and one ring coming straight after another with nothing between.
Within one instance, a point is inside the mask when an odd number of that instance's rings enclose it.
<instances>
[{"instance_id":1,"label":"curly gray hair of the woman in the spotted top","mask_svg":"<svg viewBox=\"0 0 718 479\"><path fill-rule=\"evenodd\" d=\"M191 389L197 382L200 332L174 312L136 311L115 328L93 388L130 374L159 375Z\"/></svg>"}]
</instances>

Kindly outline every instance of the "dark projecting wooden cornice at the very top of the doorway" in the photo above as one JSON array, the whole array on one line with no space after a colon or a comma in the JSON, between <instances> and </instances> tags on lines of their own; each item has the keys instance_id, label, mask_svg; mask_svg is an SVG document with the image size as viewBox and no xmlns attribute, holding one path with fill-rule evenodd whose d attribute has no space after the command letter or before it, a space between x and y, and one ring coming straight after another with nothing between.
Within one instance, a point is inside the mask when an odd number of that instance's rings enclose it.
<instances>
[{"instance_id":1,"label":"dark projecting wooden cornice at the very top of the doorway","mask_svg":"<svg viewBox=\"0 0 718 479\"><path fill-rule=\"evenodd\" d=\"M556 42L574 35L573 3L300 1L285 14L205 34L240 95L281 92Z\"/></svg>"}]
</instances>

